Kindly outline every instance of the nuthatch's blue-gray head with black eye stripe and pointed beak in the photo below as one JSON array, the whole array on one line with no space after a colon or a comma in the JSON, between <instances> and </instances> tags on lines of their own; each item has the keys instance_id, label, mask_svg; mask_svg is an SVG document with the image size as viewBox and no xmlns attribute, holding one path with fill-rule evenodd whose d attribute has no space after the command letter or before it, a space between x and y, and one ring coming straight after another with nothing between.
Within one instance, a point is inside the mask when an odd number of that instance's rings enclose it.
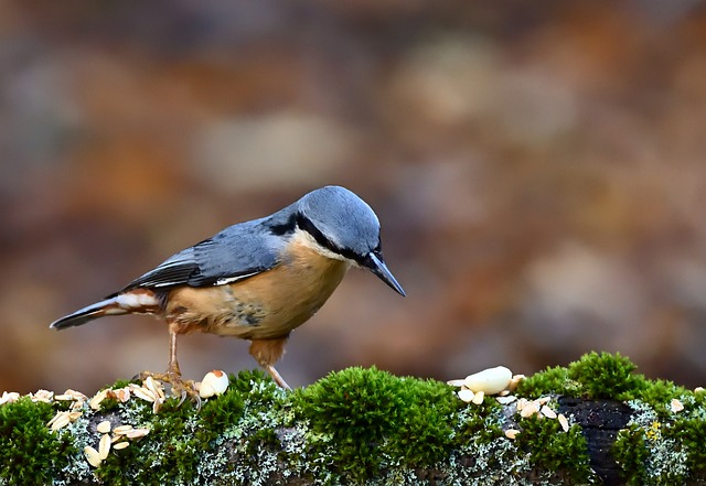
<instances>
[{"instance_id":1,"label":"nuthatch's blue-gray head with black eye stripe and pointed beak","mask_svg":"<svg viewBox=\"0 0 706 486\"><path fill-rule=\"evenodd\" d=\"M383 260L379 220L367 203L330 185L304 195L296 207L297 226L311 235L323 255L364 267L405 295Z\"/></svg>"}]
</instances>

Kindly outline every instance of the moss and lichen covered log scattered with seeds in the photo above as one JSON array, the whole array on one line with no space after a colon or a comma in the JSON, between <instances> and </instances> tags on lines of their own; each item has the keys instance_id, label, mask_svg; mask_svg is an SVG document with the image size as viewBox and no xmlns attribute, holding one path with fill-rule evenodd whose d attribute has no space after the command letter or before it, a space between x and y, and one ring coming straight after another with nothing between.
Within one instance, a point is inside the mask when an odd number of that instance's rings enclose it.
<instances>
[{"instance_id":1,"label":"moss and lichen covered log scattered with seeds","mask_svg":"<svg viewBox=\"0 0 706 486\"><path fill-rule=\"evenodd\" d=\"M634 371L591 353L478 404L376 368L293 392L242 371L200 407L153 381L4 392L0 485L706 484L704 392Z\"/></svg>"}]
</instances>

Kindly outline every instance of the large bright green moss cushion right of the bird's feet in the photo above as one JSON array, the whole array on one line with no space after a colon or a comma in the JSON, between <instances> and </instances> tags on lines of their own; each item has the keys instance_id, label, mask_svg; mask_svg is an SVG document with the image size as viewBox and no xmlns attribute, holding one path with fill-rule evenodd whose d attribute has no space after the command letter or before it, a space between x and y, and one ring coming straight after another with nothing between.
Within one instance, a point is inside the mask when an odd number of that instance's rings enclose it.
<instances>
[{"instance_id":1,"label":"large bright green moss cushion right of the bird's feet","mask_svg":"<svg viewBox=\"0 0 706 486\"><path fill-rule=\"evenodd\" d=\"M313 450L332 453L332 469L355 483L378 476L385 457L404 457L409 466L441 461L459 407L443 384L376 368L331 374L298 390L296 403L311 423Z\"/></svg>"}]
</instances>

